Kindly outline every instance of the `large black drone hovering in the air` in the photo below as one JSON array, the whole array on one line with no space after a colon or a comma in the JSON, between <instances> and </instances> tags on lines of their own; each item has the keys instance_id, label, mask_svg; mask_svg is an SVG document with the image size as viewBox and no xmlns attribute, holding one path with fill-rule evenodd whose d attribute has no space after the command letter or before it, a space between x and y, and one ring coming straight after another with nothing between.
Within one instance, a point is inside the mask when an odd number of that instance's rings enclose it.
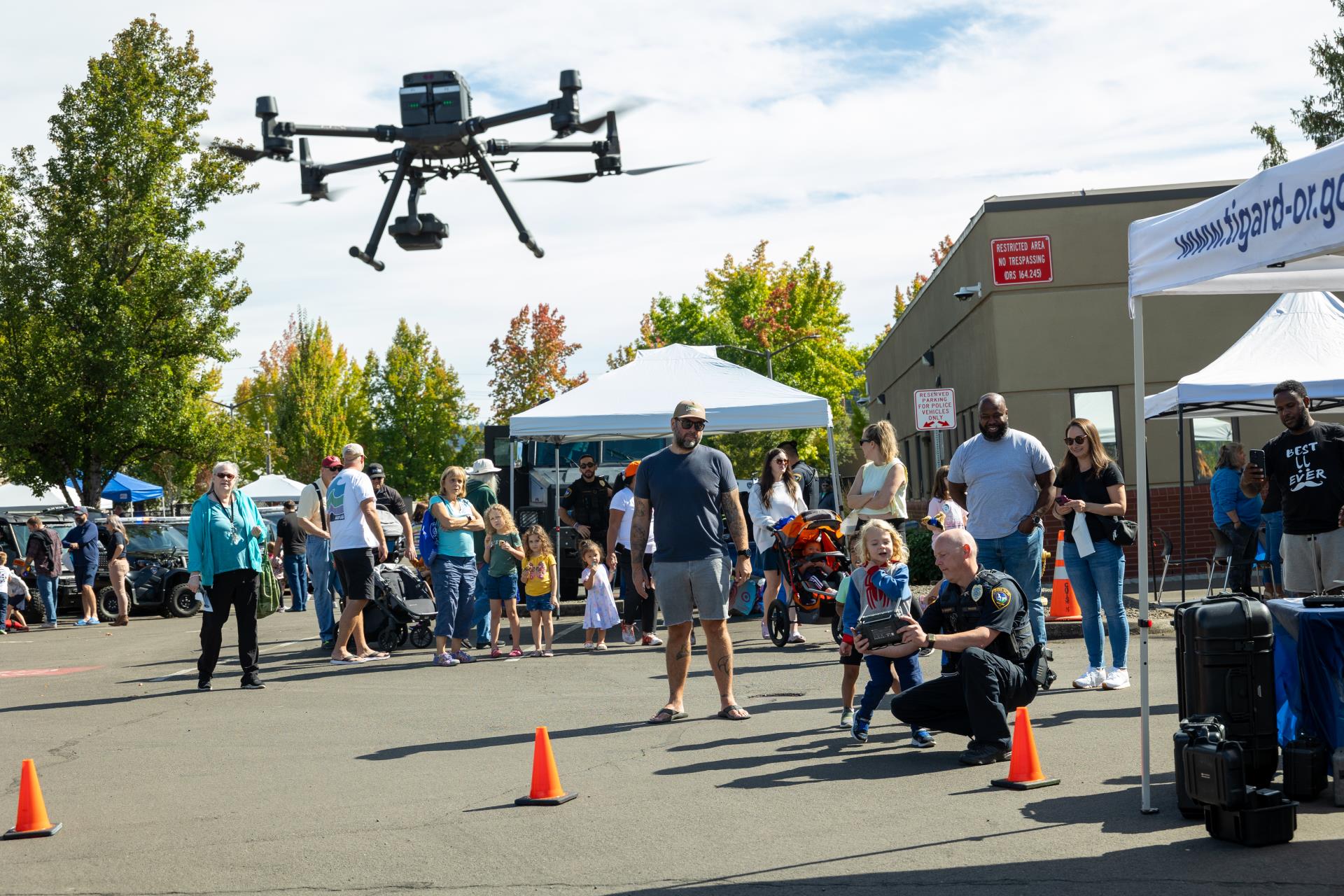
<instances>
[{"instance_id":1,"label":"large black drone hovering in the air","mask_svg":"<svg viewBox=\"0 0 1344 896\"><path fill-rule=\"evenodd\" d=\"M594 171L578 175L558 175L554 177L520 177L517 180L558 180L563 183L585 183L594 177L607 177L612 175L648 175L667 168L680 168L699 163L684 161L671 165L657 165L655 168L621 168L621 141L616 132L616 111L607 111L599 118L582 121L579 118L578 93L583 89L579 82L579 73L569 69L560 73L560 97L550 99L540 106L530 106L517 111L508 111L501 116L480 117L472 116L472 90L456 71L417 71L402 78L401 107L402 125L376 125L374 128L344 128L337 125L300 125L292 121L278 121L278 107L274 97L257 98L257 117L261 118L262 146L242 146L238 144L216 141L214 145L243 161L257 161L259 159L276 159L280 161L293 161L294 141L298 140L298 176L300 188L308 195L308 200L331 199L332 193L327 185L328 175L339 175L359 168L378 168L379 165L395 165L394 169L380 171L379 177L390 184L383 207L378 212L378 223L374 224L374 234L368 238L368 244L363 250L351 246L349 254L353 258L371 266L374 270L383 270L386 265L375 258L378 243L382 239L383 228L405 250L442 249L448 238L448 224L429 212L418 208L419 197L425 195L425 184L430 179L456 179L460 175L476 175L489 183L499 196L509 220L517 228L517 238L532 254L542 258L546 253L532 238L531 231L523 224L513 203L504 192L496 171L517 171L516 159L495 161L488 156L508 156L526 152L582 152L593 153ZM515 121L551 117L551 130L555 132L552 140L542 142L516 142L509 140L477 140L478 134L491 128L509 125ZM597 133L606 125L606 140L593 142L556 142L559 138L574 133ZM379 142L401 142L398 149L380 156L367 159L352 159L331 165L320 165L313 161L308 149L306 137L367 137ZM406 215L398 216L391 224L387 223L396 203L396 195L402 184L409 183L410 191L406 200ZM300 203L308 201L300 200Z\"/></svg>"}]
</instances>

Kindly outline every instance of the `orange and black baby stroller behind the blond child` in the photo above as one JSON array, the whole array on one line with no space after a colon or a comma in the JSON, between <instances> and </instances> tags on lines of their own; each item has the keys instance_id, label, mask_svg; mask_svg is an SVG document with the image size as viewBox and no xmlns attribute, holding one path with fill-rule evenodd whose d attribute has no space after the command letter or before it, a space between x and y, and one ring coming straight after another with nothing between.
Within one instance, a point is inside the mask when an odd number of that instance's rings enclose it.
<instances>
[{"instance_id":1,"label":"orange and black baby stroller behind the blond child","mask_svg":"<svg viewBox=\"0 0 1344 896\"><path fill-rule=\"evenodd\" d=\"M790 610L804 623L829 618L831 637L840 642L841 614L836 604L836 586L849 572L849 555L844 549L840 525L840 517L831 510L804 510L775 527L771 549L780 553L780 583L789 586L789 594L785 596L781 588L780 599L770 604L766 622L774 646L782 647L789 639ZM820 545L821 551L812 551L810 544ZM800 570L805 563L820 563L821 568Z\"/></svg>"}]
</instances>

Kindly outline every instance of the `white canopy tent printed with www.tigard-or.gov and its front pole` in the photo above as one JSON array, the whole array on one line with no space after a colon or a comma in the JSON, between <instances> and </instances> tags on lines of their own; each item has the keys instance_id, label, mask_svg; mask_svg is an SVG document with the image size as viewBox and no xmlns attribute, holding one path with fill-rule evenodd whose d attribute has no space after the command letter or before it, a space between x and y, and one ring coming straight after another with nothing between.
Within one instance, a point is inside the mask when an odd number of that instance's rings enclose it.
<instances>
[{"instance_id":1,"label":"white canopy tent printed with www.tigard-or.gov and its front pole","mask_svg":"<svg viewBox=\"0 0 1344 896\"><path fill-rule=\"evenodd\" d=\"M1202 203L1129 226L1134 418L1144 420L1144 301L1344 287L1344 141ZM1344 364L1344 361L1339 361ZM1337 376L1337 375L1336 375ZM1293 379L1302 379L1294 376ZM1142 433L1144 427L1140 427ZM1148 690L1148 445L1137 442L1141 811L1152 805Z\"/></svg>"}]
</instances>

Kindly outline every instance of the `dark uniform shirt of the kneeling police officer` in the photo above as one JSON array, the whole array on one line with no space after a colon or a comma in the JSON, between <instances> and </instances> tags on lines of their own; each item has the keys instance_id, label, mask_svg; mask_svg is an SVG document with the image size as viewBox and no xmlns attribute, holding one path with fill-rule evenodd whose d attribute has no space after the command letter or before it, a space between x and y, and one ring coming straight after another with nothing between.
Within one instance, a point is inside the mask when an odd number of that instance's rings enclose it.
<instances>
[{"instance_id":1,"label":"dark uniform shirt of the kneeling police officer","mask_svg":"<svg viewBox=\"0 0 1344 896\"><path fill-rule=\"evenodd\" d=\"M999 637L985 650L1013 664L1020 664L1035 643L1021 588L1011 575L984 567L965 591L943 582L938 599L925 609L919 625L929 634L992 629ZM949 660L948 672L956 672L961 656L954 652L943 656Z\"/></svg>"}]
</instances>

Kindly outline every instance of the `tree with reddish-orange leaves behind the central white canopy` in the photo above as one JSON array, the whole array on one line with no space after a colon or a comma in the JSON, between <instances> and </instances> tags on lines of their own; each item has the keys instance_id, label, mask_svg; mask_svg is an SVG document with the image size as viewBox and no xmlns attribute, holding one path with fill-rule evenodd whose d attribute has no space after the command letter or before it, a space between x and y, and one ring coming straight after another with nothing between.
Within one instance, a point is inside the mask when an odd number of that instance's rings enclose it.
<instances>
[{"instance_id":1,"label":"tree with reddish-orange leaves behind the central white canopy","mask_svg":"<svg viewBox=\"0 0 1344 896\"><path fill-rule=\"evenodd\" d=\"M491 377L491 410L504 423L515 414L587 383L587 373L570 376L567 361L583 348L564 341L564 316L542 302L532 312L524 305L508 324L503 340L491 343L487 361Z\"/></svg>"}]
</instances>

